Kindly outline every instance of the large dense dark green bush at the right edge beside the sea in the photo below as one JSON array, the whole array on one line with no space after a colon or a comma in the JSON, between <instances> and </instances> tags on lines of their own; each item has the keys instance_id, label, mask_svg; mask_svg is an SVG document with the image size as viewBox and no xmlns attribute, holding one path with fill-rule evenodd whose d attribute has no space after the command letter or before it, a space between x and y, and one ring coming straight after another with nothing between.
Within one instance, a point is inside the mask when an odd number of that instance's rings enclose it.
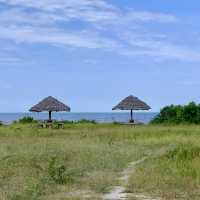
<instances>
[{"instance_id":1,"label":"large dense dark green bush at the right edge beside the sea","mask_svg":"<svg viewBox=\"0 0 200 200\"><path fill-rule=\"evenodd\" d=\"M171 105L164 107L151 121L152 124L200 124L200 104Z\"/></svg>"}]
</instances>

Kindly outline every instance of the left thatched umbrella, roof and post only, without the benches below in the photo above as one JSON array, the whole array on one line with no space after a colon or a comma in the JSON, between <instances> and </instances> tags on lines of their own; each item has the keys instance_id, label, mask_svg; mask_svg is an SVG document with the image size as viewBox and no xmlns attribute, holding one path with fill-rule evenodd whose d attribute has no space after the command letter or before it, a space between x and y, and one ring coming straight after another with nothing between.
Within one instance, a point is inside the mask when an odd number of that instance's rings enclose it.
<instances>
[{"instance_id":1,"label":"left thatched umbrella, roof and post only, without the benches below","mask_svg":"<svg viewBox=\"0 0 200 200\"><path fill-rule=\"evenodd\" d=\"M49 96L30 109L30 112L43 112L43 111L49 112L49 121L51 122L52 112L62 112L62 111L70 112L70 107L66 106L64 103L58 101L57 99Z\"/></svg>"}]
</instances>

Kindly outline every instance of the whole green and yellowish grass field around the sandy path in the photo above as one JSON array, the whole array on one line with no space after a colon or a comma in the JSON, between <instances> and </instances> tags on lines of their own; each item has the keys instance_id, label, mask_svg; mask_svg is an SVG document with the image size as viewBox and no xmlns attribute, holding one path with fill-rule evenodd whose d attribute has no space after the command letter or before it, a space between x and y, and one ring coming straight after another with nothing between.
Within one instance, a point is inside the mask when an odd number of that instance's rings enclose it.
<instances>
[{"instance_id":1,"label":"whole green and yellowish grass field around the sandy path","mask_svg":"<svg viewBox=\"0 0 200 200\"><path fill-rule=\"evenodd\" d=\"M128 192L200 199L200 126L1 126L0 199L99 200L130 162L146 156L130 174Z\"/></svg>"}]
</instances>

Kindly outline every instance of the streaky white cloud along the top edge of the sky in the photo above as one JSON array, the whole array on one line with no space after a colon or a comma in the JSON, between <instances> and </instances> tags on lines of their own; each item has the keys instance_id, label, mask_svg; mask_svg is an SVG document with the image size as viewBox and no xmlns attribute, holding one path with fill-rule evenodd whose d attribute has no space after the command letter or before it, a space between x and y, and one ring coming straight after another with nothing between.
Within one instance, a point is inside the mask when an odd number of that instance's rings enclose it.
<instances>
[{"instance_id":1,"label":"streaky white cloud along the top edge of the sky","mask_svg":"<svg viewBox=\"0 0 200 200\"><path fill-rule=\"evenodd\" d=\"M112 24L131 21L170 23L177 20L169 14L119 9L103 0L0 0L0 3L17 6L18 10L6 10L0 14L1 19L17 22L80 20ZM27 13L27 8L35 10Z\"/></svg>"}]
</instances>

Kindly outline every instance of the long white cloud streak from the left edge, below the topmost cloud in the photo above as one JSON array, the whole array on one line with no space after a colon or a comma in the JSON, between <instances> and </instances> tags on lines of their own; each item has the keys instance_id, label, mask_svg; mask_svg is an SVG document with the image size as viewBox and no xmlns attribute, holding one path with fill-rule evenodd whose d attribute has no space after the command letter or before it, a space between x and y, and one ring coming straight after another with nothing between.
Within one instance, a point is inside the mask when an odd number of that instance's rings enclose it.
<instances>
[{"instance_id":1,"label":"long white cloud streak from the left edge, below the topmost cloud","mask_svg":"<svg viewBox=\"0 0 200 200\"><path fill-rule=\"evenodd\" d=\"M61 32L59 29L50 28L1 27L0 38L11 39L17 43L50 43L85 48L114 49L118 46L115 41L98 37L86 31L79 33Z\"/></svg>"}]
</instances>

